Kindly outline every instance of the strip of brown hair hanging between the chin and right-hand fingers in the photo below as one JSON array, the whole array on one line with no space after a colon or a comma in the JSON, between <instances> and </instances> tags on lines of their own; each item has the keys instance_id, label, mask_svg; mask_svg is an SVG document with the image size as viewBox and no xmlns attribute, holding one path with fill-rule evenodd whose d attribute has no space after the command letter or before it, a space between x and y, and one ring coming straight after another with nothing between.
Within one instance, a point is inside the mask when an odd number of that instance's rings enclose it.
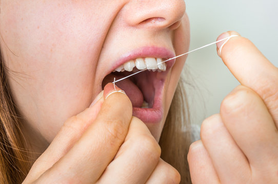
<instances>
[{"instance_id":1,"label":"strip of brown hair hanging between the chin and right-hand fingers","mask_svg":"<svg viewBox=\"0 0 278 184\"><path fill-rule=\"evenodd\" d=\"M186 81L182 73L160 138L161 158L181 174L181 183L190 184L187 153L192 143Z\"/></svg>"}]
</instances>

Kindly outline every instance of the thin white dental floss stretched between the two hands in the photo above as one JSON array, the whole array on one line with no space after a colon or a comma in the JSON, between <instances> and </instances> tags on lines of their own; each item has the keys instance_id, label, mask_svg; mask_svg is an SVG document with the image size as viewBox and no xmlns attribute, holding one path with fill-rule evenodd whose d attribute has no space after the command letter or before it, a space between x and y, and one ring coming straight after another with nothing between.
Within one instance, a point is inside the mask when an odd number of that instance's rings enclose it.
<instances>
[{"instance_id":1,"label":"thin white dental floss stretched between the two hands","mask_svg":"<svg viewBox=\"0 0 278 184\"><path fill-rule=\"evenodd\" d=\"M223 39L221 39L221 40L214 41L214 42L212 42L212 43L209 43L209 44L204 45L203 47L200 47L200 48L194 49L194 50L192 50L192 51L189 51L189 52L187 52L187 53L181 54L181 55L179 55L179 56L176 56L176 57L173 57L173 58L167 59L166 61L163 61L163 62L157 63L157 65L158 65L158 64L161 64L161 63L164 63L164 62L167 62L167 61L170 61L170 60L172 60L172 59L175 59L175 58L178 58L178 57L184 56L184 55L189 54L189 53L191 53L191 52L194 52L194 51L197 51L197 50L200 50L200 49L206 48L206 47L208 47L208 46L210 46L210 45L212 45L212 44L215 44L215 43L221 42L221 41L223 41L223 40L226 40L226 41L225 41L225 42L221 45L221 47L220 47L220 49L219 49L219 51L218 51L218 55L220 56L223 46L224 46L224 45L225 45L225 44L229 41L229 39L230 39L230 38L232 38L232 37L236 37L236 36L237 36L237 35L231 35L231 36L229 36L229 37L227 37L227 38L223 38ZM141 71L139 71L139 72L136 72L136 73L134 73L134 74L131 74L131 75L127 76L127 77L124 77L124 78L119 79L119 80L116 80L116 81L115 81L115 78L114 78L114 82L113 82L113 83L114 83L114 85L115 85L115 83L116 83L116 82L120 82L120 81L122 81L122 80L124 80L124 79L127 79L127 78L129 78L129 77L131 77L131 76L133 76L133 75L136 75L136 74L138 74L138 73L144 72L144 71L146 71L146 70L148 70L148 68L145 68L144 70L141 70ZM119 92L119 91L114 91L113 93L116 93L116 92ZM111 93L111 94L112 94L112 93ZM111 94L109 94L109 95L111 95ZM108 96L107 96L107 97L108 97ZM106 97L106 98L107 98L107 97Z\"/></svg>"}]
</instances>

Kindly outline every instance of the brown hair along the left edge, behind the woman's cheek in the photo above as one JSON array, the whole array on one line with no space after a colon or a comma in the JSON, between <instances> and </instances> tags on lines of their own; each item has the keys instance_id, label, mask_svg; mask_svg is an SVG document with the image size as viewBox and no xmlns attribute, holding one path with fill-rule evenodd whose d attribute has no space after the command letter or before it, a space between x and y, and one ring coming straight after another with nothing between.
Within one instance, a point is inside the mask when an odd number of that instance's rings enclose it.
<instances>
[{"instance_id":1,"label":"brown hair along the left edge, behind the woman's cheek","mask_svg":"<svg viewBox=\"0 0 278 184\"><path fill-rule=\"evenodd\" d=\"M0 51L0 183L22 183L31 163L6 71Z\"/></svg>"}]
</instances>

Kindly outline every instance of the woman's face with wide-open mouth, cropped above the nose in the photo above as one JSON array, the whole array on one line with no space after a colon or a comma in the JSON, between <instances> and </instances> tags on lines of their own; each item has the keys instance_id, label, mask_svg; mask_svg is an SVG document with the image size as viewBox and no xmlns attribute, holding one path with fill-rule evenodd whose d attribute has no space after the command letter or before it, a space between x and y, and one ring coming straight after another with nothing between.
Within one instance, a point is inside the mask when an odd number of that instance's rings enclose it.
<instances>
[{"instance_id":1,"label":"woman's face with wide-open mouth, cropped above the nose","mask_svg":"<svg viewBox=\"0 0 278 184\"><path fill-rule=\"evenodd\" d=\"M167 59L189 47L183 0L0 4L1 50L12 96L29 134L47 143L68 118L90 105L103 85L130 74L110 74L116 68L136 58L143 58L138 65L157 67L154 59L145 58ZM147 71L116 83L157 141L184 62L185 57L178 58L173 66L168 62L166 72ZM143 100L149 108L140 108Z\"/></svg>"}]
</instances>

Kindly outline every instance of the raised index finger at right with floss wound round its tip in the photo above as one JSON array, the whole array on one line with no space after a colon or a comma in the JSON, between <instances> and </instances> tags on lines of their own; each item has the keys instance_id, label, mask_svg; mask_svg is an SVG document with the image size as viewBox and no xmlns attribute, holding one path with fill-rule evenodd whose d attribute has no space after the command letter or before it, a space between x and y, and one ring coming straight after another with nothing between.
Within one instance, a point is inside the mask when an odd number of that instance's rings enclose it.
<instances>
[{"instance_id":1,"label":"raised index finger at right with floss wound round its tip","mask_svg":"<svg viewBox=\"0 0 278 184\"><path fill-rule=\"evenodd\" d=\"M229 35L227 32L218 39ZM217 44L217 48L223 42ZM253 89L264 100L274 121L278 123L278 68L271 64L255 45L241 36L231 38L223 47L221 57L242 85Z\"/></svg>"}]
</instances>

